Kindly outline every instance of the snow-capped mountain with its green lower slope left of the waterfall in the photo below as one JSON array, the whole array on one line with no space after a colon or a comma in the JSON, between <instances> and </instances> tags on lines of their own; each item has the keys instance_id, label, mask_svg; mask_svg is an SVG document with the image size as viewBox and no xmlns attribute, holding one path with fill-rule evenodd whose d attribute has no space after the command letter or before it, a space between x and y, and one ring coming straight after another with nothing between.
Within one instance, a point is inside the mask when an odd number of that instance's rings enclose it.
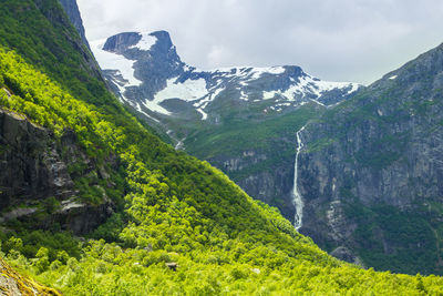
<instances>
[{"instance_id":1,"label":"snow-capped mountain with its green lower slope left of the waterfall","mask_svg":"<svg viewBox=\"0 0 443 296\"><path fill-rule=\"evenodd\" d=\"M362 88L295 65L198 70L165 31L121 33L92 49L122 102L290 221L296 132Z\"/></svg>"}]
</instances>

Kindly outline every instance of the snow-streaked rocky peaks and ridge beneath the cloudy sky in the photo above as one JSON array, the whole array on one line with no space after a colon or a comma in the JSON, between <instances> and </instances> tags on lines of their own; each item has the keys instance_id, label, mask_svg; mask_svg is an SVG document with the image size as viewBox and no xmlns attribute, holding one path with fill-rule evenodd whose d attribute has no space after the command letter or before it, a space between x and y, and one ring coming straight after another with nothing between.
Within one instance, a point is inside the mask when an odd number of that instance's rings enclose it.
<instances>
[{"instance_id":1,"label":"snow-streaked rocky peaks and ridge beneath the cloudy sky","mask_svg":"<svg viewBox=\"0 0 443 296\"><path fill-rule=\"evenodd\" d=\"M155 121L188 116L192 110L207 120L218 100L240 104L268 100L276 112L308 102L329 106L361 86L322 81L296 65L199 70L182 62L165 31L121 33L92 42L92 49L121 100Z\"/></svg>"}]
</instances>

